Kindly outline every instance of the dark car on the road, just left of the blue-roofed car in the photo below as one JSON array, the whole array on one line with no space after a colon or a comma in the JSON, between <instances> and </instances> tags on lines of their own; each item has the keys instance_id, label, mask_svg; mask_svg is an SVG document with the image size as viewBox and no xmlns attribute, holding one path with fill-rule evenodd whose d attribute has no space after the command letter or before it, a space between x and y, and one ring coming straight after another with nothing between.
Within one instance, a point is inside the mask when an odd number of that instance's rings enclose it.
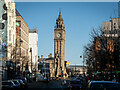
<instances>
[{"instance_id":1,"label":"dark car on the road, just left of the blue-roofed car","mask_svg":"<svg viewBox=\"0 0 120 90\"><path fill-rule=\"evenodd\" d=\"M68 88L69 89L79 89L79 90L82 90L82 82L81 80L71 80L69 85L68 85Z\"/></svg>"}]
</instances>

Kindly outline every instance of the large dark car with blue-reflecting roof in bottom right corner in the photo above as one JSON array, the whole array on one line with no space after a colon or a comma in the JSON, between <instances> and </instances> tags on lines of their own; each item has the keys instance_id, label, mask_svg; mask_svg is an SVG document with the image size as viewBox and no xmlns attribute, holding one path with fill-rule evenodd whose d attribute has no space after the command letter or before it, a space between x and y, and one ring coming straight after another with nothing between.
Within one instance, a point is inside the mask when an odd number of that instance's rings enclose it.
<instances>
[{"instance_id":1,"label":"large dark car with blue-reflecting roof in bottom right corner","mask_svg":"<svg viewBox=\"0 0 120 90\"><path fill-rule=\"evenodd\" d=\"M88 90L120 90L120 83L112 81L91 81Z\"/></svg>"}]
</instances>

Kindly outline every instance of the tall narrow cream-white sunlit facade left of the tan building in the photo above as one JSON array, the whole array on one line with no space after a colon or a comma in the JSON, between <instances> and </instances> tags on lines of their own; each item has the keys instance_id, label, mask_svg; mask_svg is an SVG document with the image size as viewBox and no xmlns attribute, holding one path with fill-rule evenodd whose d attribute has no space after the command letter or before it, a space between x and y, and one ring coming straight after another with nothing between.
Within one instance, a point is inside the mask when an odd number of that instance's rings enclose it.
<instances>
[{"instance_id":1,"label":"tall narrow cream-white sunlit facade left of the tan building","mask_svg":"<svg viewBox=\"0 0 120 90\"><path fill-rule=\"evenodd\" d=\"M13 60L16 46L16 13L15 2L5 0L7 7L7 60Z\"/></svg>"}]
</instances>

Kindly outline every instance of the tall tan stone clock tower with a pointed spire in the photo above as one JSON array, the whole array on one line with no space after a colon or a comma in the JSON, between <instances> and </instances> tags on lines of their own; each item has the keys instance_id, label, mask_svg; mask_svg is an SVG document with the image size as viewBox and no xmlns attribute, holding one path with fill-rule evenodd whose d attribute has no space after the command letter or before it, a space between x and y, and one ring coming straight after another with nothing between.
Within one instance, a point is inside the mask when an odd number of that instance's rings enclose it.
<instances>
[{"instance_id":1,"label":"tall tan stone clock tower with a pointed spire","mask_svg":"<svg viewBox=\"0 0 120 90\"><path fill-rule=\"evenodd\" d=\"M65 67L65 26L63 26L63 18L59 12L56 26L54 29L54 62L55 62L55 76L66 76Z\"/></svg>"}]
</instances>

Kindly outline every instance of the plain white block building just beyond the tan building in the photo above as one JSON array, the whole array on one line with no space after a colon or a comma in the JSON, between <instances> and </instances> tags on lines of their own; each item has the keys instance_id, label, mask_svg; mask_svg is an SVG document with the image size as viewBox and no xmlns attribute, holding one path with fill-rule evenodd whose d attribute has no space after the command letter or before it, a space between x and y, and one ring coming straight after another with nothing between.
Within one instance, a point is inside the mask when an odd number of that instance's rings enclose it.
<instances>
[{"instance_id":1,"label":"plain white block building just beyond the tan building","mask_svg":"<svg viewBox=\"0 0 120 90\"><path fill-rule=\"evenodd\" d=\"M31 49L31 50L30 50ZM38 30L29 30L29 56L31 59L31 65L29 65L29 70L38 70ZM32 57L32 58L31 58ZM31 70L32 69L32 70Z\"/></svg>"}]
</instances>

